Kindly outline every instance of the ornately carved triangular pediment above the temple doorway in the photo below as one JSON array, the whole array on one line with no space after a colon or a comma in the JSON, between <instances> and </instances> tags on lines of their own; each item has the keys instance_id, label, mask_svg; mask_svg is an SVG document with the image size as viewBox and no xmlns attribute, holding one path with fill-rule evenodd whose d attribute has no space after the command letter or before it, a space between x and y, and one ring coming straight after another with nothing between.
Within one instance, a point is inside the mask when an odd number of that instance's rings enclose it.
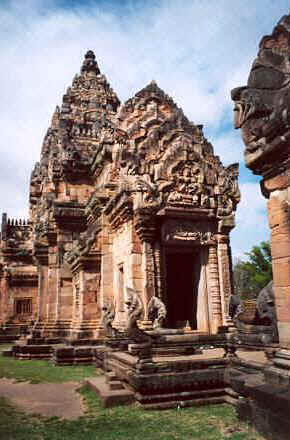
<instances>
[{"instance_id":1,"label":"ornately carved triangular pediment above the temple doorway","mask_svg":"<svg viewBox=\"0 0 290 440\"><path fill-rule=\"evenodd\" d=\"M238 166L222 166L202 126L189 122L156 83L127 101L117 120L122 142L113 147L107 175L129 186L134 210L201 208L220 217L235 210Z\"/></svg>"}]
</instances>

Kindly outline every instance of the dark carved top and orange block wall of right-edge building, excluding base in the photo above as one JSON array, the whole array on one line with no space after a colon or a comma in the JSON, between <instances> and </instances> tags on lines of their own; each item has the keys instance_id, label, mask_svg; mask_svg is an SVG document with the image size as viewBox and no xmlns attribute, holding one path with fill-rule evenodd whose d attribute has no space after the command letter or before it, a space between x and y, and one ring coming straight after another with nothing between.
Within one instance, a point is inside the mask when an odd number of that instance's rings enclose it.
<instances>
[{"instance_id":1,"label":"dark carved top and orange block wall of right-edge building, excluding base","mask_svg":"<svg viewBox=\"0 0 290 440\"><path fill-rule=\"evenodd\" d=\"M232 90L246 166L263 176L281 347L290 349L290 15L262 38L248 85ZM290 365L290 364L289 364Z\"/></svg>"}]
</instances>

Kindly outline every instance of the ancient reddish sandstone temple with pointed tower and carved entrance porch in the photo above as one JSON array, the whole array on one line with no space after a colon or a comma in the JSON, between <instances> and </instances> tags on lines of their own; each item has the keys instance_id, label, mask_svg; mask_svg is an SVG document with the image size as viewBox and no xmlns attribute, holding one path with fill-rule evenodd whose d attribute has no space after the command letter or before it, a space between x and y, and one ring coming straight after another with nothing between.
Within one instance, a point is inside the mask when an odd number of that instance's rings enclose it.
<instances>
[{"instance_id":1,"label":"ancient reddish sandstone temple with pointed tower and carved entrance porch","mask_svg":"<svg viewBox=\"0 0 290 440\"><path fill-rule=\"evenodd\" d=\"M107 304L127 326L134 289L140 328L158 298L164 327L216 334L230 323L237 177L155 82L121 105L87 52L32 171L28 221L2 218L0 322L97 338Z\"/></svg>"}]
</instances>

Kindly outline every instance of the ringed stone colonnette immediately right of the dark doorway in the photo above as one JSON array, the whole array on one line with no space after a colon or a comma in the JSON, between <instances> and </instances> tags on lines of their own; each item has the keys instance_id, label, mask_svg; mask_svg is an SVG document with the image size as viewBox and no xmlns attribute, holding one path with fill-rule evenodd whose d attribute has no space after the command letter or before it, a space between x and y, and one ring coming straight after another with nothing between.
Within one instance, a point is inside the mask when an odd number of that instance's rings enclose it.
<instances>
[{"instance_id":1,"label":"ringed stone colonnette immediately right of the dark doorway","mask_svg":"<svg viewBox=\"0 0 290 440\"><path fill-rule=\"evenodd\" d=\"M208 275L209 275L209 303L210 303L210 329L211 333L217 333L222 325L221 295L219 284L219 267L217 247L209 246L208 250Z\"/></svg>"}]
</instances>

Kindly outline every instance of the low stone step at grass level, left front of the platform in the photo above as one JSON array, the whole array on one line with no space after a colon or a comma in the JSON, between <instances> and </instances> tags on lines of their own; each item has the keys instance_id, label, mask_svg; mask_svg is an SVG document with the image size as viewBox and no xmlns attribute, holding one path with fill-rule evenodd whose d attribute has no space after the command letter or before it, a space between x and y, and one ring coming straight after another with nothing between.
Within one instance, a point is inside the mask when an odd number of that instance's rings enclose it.
<instances>
[{"instance_id":1,"label":"low stone step at grass level, left front of the platform","mask_svg":"<svg viewBox=\"0 0 290 440\"><path fill-rule=\"evenodd\" d=\"M127 388L111 390L104 376L86 379L85 383L100 396L105 408L135 401L134 393Z\"/></svg>"}]
</instances>

